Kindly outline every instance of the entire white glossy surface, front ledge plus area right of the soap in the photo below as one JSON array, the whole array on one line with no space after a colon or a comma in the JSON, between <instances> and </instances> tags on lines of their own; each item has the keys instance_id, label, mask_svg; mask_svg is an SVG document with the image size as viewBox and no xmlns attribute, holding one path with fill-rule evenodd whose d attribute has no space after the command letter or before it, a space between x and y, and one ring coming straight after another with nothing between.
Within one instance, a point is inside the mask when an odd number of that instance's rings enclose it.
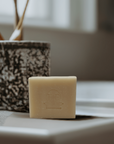
<instances>
[{"instance_id":1,"label":"entire white glossy surface, front ledge plus area right of the soap","mask_svg":"<svg viewBox=\"0 0 114 144\"><path fill-rule=\"evenodd\" d=\"M30 119L28 113L0 111L0 143L112 144L113 102L114 82L78 82L76 113L88 116Z\"/></svg>"}]
</instances>

